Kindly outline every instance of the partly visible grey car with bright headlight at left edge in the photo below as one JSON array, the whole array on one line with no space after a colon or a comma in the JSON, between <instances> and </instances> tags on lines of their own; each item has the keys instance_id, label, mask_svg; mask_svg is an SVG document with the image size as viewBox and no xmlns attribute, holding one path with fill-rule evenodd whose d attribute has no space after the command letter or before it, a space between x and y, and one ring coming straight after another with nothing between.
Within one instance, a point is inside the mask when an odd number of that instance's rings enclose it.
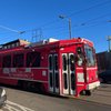
<instances>
[{"instance_id":1,"label":"partly visible grey car with bright headlight at left edge","mask_svg":"<svg viewBox=\"0 0 111 111\"><path fill-rule=\"evenodd\" d=\"M6 104L7 101L7 93L6 90L0 87L0 108Z\"/></svg>"}]
</instances>

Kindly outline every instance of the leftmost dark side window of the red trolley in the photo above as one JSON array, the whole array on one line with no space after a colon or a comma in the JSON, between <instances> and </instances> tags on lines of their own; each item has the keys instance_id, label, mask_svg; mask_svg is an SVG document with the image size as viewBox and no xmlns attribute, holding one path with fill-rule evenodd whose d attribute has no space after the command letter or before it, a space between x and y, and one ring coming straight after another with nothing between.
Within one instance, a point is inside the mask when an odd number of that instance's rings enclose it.
<instances>
[{"instance_id":1,"label":"leftmost dark side window of the red trolley","mask_svg":"<svg viewBox=\"0 0 111 111\"><path fill-rule=\"evenodd\" d=\"M2 58L2 67L10 68L11 67L11 56L4 56Z\"/></svg>"}]
</instances>

